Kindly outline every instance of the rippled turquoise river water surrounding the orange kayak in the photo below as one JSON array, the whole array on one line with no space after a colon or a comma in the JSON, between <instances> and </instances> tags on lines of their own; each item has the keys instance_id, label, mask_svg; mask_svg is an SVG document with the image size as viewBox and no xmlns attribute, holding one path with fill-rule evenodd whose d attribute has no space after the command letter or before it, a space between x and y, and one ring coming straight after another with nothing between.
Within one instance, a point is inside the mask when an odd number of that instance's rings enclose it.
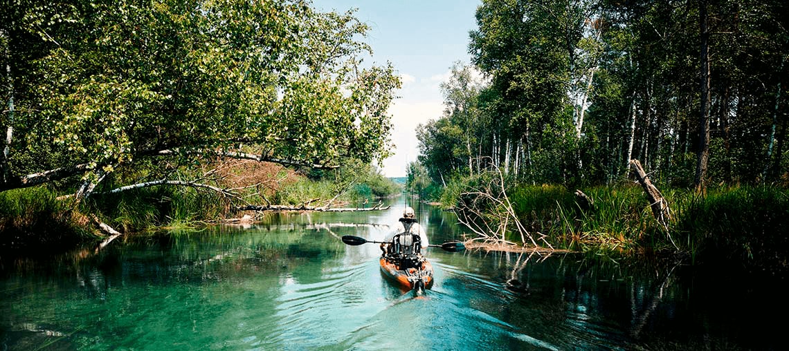
<instances>
[{"instance_id":1,"label":"rippled turquoise river water surrounding the orange kayak","mask_svg":"<svg viewBox=\"0 0 789 351\"><path fill-rule=\"evenodd\" d=\"M579 256L431 249L403 294L375 244L399 216L275 214L139 235L99 254L0 262L0 349L778 349L783 289ZM460 237L425 209L431 242ZM783 284L785 286L785 284ZM776 287L776 286L773 286ZM780 286L778 286L780 287Z\"/></svg>"}]
</instances>

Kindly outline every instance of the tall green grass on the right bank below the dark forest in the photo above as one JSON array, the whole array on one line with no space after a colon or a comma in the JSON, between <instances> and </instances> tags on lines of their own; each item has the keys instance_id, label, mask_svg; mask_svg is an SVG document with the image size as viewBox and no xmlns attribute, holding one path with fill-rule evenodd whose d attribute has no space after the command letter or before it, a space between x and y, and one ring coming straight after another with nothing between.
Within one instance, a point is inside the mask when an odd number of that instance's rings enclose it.
<instances>
[{"instance_id":1,"label":"tall green grass on the right bank below the dark forest","mask_svg":"<svg viewBox=\"0 0 789 351\"><path fill-rule=\"evenodd\" d=\"M657 223L638 185L592 187L586 207L559 186L521 186L507 191L518 218L552 245L590 253L681 253L691 263L727 262L762 270L785 269L789 190L718 187L705 195L664 190L671 207L668 231ZM508 233L507 239L519 241Z\"/></svg>"}]
</instances>

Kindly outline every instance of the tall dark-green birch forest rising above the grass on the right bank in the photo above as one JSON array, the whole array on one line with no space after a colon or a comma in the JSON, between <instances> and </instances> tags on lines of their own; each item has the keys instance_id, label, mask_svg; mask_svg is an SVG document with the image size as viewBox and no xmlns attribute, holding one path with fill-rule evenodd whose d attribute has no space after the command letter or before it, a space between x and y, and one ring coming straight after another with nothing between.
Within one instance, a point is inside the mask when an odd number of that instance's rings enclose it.
<instances>
[{"instance_id":1,"label":"tall dark-green birch forest rising above the grass on the right bank","mask_svg":"<svg viewBox=\"0 0 789 351\"><path fill-rule=\"evenodd\" d=\"M632 159L675 187L780 183L784 13L780 1L485 1L473 62L452 68L443 118L419 131L421 164L439 183L493 163L528 183L609 184Z\"/></svg>"}]
</instances>

